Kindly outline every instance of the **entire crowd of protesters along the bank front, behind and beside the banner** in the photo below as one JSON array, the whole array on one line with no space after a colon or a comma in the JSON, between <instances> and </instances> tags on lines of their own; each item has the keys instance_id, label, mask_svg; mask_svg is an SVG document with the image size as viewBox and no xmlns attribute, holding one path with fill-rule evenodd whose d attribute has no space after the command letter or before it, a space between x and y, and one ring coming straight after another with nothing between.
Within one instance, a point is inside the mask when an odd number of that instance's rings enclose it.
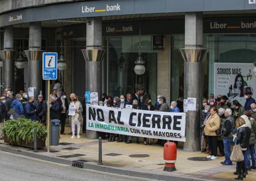
<instances>
[{"instance_id":1,"label":"entire crowd of protesters along the bank front, behind and beside the banner","mask_svg":"<svg viewBox=\"0 0 256 181\"><path fill-rule=\"evenodd\" d=\"M253 91L247 87L243 91L245 104L242 106L238 100L228 101L226 95L209 95L208 99L202 99L201 116L201 151L208 154L211 160L217 157L224 157L222 165L231 165L230 159L232 145L240 144L244 161L237 162L237 171L239 175L236 179L242 180L251 169L256 169L255 165L255 144L256 144L256 102L251 97ZM85 98L78 97L71 93L69 100L65 92L57 93L52 90L50 94L50 119L58 119L61 122L61 133L65 131L65 121L69 118L72 130L71 138L80 138L81 122L82 130L86 132L86 109ZM136 110L147 111L165 111L165 112L183 112L182 98L167 104L162 95L157 96L156 104L152 104L151 95L144 88L137 88L135 93L127 93L112 97L103 93L99 106L108 106L114 108L125 108L131 105ZM72 114L69 109L72 109ZM25 117L31 120L38 120L46 125L47 102L43 100L43 95L38 95L37 100L24 91L20 91L13 96L12 91L6 89L3 96L0 97L0 123L5 119L16 119ZM76 132L77 131L77 132ZM116 135L101 133L102 138L109 142L125 142L130 144L133 140L140 143L140 138L133 138L126 135ZM0 133L1 137L1 133ZM142 138L144 144L154 143L154 139ZM157 140L156 144L164 145L165 140ZM176 142L177 144L177 142ZM219 154L218 154L219 150Z\"/></svg>"}]
</instances>

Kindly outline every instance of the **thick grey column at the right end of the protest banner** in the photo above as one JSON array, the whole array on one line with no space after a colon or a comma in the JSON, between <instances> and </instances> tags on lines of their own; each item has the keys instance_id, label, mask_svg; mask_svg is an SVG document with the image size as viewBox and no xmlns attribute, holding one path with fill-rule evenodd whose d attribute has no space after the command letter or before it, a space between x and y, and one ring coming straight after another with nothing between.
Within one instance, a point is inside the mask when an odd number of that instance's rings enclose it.
<instances>
[{"instance_id":1,"label":"thick grey column at the right end of the protest banner","mask_svg":"<svg viewBox=\"0 0 256 181\"><path fill-rule=\"evenodd\" d=\"M198 151L200 149L199 122L202 99L201 67L206 55L203 45L202 13L187 13L185 15L185 48L180 51L184 63L184 99L197 98L197 110L186 114L186 142L184 150Z\"/></svg>"}]
</instances>

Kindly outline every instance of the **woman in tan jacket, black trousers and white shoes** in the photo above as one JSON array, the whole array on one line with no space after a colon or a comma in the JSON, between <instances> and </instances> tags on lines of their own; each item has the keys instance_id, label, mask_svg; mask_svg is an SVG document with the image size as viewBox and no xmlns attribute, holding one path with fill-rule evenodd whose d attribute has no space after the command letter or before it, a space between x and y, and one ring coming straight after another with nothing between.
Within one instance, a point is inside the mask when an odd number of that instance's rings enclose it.
<instances>
[{"instance_id":1,"label":"woman in tan jacket, black trousers and white shoes","mask_svg":"<svg viewBox=\"0 0 256 181\"><path fill-rule=\"evenodd\" d=\"M217 137L216 131L220 128L220 117L217 113L215 107L210 110L211 115L206 121L206 126L204 127L204 133L208 138L209 150L211 153L207 158L211 160L217 159Z\"/></svg>"}]
</instances>

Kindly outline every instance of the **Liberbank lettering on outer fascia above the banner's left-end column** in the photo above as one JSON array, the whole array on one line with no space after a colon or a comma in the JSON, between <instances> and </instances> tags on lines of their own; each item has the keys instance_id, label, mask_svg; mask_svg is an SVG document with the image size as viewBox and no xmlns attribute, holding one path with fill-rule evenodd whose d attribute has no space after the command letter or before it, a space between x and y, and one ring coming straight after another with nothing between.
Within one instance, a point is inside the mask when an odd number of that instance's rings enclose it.
<instances>
[{"instance_id":1,"label":"Liberbank lettering on outer fascia above the banner's left-end column","mask_svg":"<svg viewBox=\"0 0 256 181\"><path fill-rule=\"evenodd\" d=\"M94 13L94 12L116 12L121 10L121 5L106 5L104 8L96 8L95 6L81 6L81 13Z\"/></svg>"}]
</instances>

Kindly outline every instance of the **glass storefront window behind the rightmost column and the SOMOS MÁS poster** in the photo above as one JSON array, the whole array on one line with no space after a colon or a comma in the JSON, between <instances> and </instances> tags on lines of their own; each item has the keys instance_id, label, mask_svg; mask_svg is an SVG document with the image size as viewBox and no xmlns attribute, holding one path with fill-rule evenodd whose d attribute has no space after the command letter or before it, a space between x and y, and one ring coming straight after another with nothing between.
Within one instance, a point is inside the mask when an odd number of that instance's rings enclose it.
<instances>
[{"instance_id":1,"label":"glass storefront window behind the rightmost column and the SOMOS M\u00c1S poster","mask_svg":"<svg viewBox=\"0 0 256 181\"><path fill-rule=\"evenodd\" d=\"M171 99L183 97L184 61L180 48L184 48L184 35L171 36ZM202 62L202 97L214 92L214 63L253 63L256 60L255 34L204 35L204 48L208 49ZM216 95L215 95L216 96Z\"/></svg>"}]
</instances>

